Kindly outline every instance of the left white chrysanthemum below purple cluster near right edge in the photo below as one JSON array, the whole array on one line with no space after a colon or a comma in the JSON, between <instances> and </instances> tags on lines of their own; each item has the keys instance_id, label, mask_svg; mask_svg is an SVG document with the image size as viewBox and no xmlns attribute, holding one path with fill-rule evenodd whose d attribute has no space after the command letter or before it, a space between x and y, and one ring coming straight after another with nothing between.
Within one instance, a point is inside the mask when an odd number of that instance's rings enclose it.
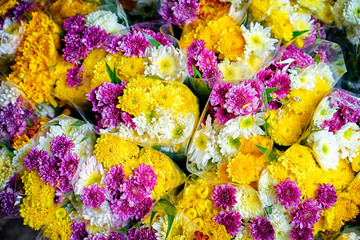
<instances>
[{"instance_id":1,"label":"left white chrysanthemum below purple cluster near right edge","mask_svg":"<svg viewBox=\"0 0 360 240\"><path fill-rule=\"evenodd\" d=\"M312 149L317 156L319 165L325 170L336 170L340 161L338 138L326 129L312 133L312 135Z\"/></svg>"}]
</instances>

